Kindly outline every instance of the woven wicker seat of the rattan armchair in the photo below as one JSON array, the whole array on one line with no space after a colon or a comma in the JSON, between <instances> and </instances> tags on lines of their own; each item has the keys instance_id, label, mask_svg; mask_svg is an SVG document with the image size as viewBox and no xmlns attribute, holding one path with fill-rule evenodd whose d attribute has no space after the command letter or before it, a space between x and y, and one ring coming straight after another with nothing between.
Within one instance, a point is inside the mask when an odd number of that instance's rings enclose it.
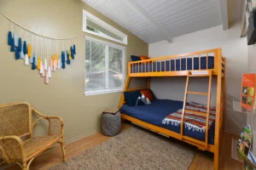
<instances>
[{"instance_id":1,"label":"woven wicker seat of the rattan armchair","mask_svg":"<svg viewBox=\"0 0 256 170\"><path fill-rule=\"evenodd\" d=\"M29 160L33 157L33 155L38 151L39 153L36 154L38 156L40 153L44 152L45 150L49 149L50 146L55 144L61 136L59 135L52 135L52 136L38 136L32 139L28 139L24 142L24 151L26 154L26 160Z\"/></svg>"}]
</instances>

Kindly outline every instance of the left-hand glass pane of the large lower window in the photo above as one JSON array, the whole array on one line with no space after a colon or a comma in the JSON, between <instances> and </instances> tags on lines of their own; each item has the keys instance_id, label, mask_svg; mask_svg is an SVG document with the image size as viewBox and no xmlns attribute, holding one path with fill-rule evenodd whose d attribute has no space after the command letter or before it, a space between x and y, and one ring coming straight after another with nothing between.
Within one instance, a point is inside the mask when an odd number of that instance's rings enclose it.
<instances>
[{"instance_id":1,"label":"left-hand glass pane of the large lower window","mask_svg":"<svg viewBox=\"0 0 256 170\"><path fill-rule=\"evenodd\" d=\"M100 90L106 87L105 44L85 41L85 86L86 90Z\"/></svg>"}]
</instances>

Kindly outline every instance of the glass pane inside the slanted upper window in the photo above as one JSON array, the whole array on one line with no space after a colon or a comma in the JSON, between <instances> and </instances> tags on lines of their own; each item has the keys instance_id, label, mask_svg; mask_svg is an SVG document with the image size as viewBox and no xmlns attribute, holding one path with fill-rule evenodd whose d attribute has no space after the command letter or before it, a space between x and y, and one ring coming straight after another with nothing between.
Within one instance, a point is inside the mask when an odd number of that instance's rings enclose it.
<instances>
[{"instance_id":1,"label":"glass pane inside the slanted upper window","mask_svg":"<svg viewBox=\"0 0 256 170\"><path fill-rule=\"evenodd\" d=\"M91 20L86 20L86 28L87 30L90 31L94 31L98 34L101 34L102 36L107 36L107 37L112 37L114 39L117 39L119 41L123 41L122 37L119 37L115 34L113 34L113 32L108 31L107 29L103 28L102 26L97 25L95 22L91 21Z\"/></svg>"}]
</instances>

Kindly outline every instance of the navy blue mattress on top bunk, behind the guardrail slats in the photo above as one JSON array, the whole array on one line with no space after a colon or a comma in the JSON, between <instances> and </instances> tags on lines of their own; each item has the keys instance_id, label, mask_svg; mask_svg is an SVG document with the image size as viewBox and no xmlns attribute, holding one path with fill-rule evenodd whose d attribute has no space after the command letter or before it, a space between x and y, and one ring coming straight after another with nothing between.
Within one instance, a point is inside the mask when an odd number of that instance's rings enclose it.
<instances>
[{"instance_id":1,"label":"navy blue mattress on top bunk, behind the guardrail slats","mask_svg":"<svg viewBox=\"0 0 256 170\"><path fill-rule=\"evenodd\" d=\"M194 58L194 70L204 70L204 69L214 69L214 57L208 56L208 67L207 67L207 57L201 57L201 68L199 68L199 58ZM176 66L176 70L175 70ZM170 68L171 67L171 68ZM165 70L166 68L166 70ZM191 71L193 69L192 67L192 58L187 59L187 69L186 69L186 59L176 59L176 65L175 65L175 59L171 59L171 65L170 60L161 61L161 62L151 62L147 64L137 64L131 66L131 73L132 72L152 72L152 71Z\"/></svg>"}]
</instances>

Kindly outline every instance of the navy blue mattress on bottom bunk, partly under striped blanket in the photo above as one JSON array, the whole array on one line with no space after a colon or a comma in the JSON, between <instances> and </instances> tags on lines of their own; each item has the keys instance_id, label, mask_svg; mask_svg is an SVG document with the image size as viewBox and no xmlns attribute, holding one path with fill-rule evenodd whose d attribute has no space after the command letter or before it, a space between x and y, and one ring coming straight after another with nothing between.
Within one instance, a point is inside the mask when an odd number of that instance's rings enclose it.
<instances>
[{"instance_id":1,"label":"navy blue mattress on bottom bunk, partly under striped blanket","mask_svg":"<svg viewBox=\"0 0 256 170\"><path fill-rule=\"evenodd\" d=\"M173 113L183 108L183 101L171 100L171 99L155 99L151 105L136 105L129 106L123 105L120 108L120 112L137 118L143 122L148 122L158 127L164 127L173 132L180 133L180 126L174 126L172 124L162 124L163 119L170 113ZM208 143L214 144L214 128L215 122L212 122L212 126L208 133ZM192 129L183 128L183 134L194 139L205 141L205 133L193 131Z\"/></svg>"}]
</instances>

